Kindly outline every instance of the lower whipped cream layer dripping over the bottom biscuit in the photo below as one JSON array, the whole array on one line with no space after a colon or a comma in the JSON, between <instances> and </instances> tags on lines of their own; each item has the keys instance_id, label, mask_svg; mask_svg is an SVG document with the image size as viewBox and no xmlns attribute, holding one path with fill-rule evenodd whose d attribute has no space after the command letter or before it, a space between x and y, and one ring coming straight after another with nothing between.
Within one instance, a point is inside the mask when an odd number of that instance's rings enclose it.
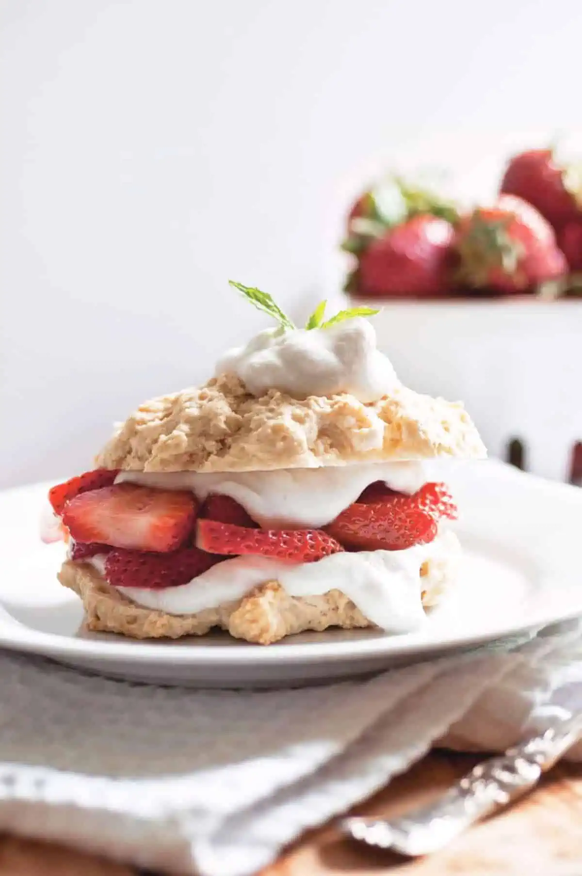
<instances>
[{"instance_id":1,"label":"lower whipped cream layer dripping over the bottom biscuit","mask_svg":"<svg viewBox=\"0 0 582 876\"><path fill-rule=\"evenodd\" d=\"M117 590L145 608L181 615L242 599L259 584L277 580L293 597L323 596L330 590L341 590L373 624L387 632L410 632L425 620L422 563L429 555L435 558L447 549L447 533L442 533L428 545L407 550L345 552L317 562L291 564L246 555L220 562L178 587ZM86 562L104 575L104 555Z\"/></svg>"}]
</instances>

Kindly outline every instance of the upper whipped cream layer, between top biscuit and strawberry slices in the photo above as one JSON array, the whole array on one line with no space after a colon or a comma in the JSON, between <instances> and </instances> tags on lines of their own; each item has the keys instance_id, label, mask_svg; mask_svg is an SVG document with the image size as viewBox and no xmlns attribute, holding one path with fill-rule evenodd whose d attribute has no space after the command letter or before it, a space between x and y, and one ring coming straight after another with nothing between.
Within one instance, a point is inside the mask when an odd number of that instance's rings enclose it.
<instances>
[{"instance_id":1,"label":"upper whipped cream layer, between top biscuit and strawberry slices","mask_svg":"<svg viewBox=\"0 0 582 876\"><path fill-rule=\"evenodd\" d=\"M391 490L414 493L427 482L420 462L358 463L321 469L271 471L122 471L116 484L191 490L203 501L209 493L231 496L263 528L326 526L370 484L383 481Z\"/></svg>"}]
</instances>

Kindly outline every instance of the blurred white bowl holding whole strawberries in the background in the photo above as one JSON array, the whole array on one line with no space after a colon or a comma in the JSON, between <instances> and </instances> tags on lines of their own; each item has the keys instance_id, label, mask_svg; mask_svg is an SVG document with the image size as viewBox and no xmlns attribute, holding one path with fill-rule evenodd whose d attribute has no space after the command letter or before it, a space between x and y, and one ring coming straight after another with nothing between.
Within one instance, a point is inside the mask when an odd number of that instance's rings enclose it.
<instances>
[{"instance_id":1,"label":"blurred white bowl holding whole strawberries in the background","mask_svg":"<svg viewBox=\"0 0 582 876\"><path fill-rule=\"evenodd\" d=\"M380 305L379 347L403 383L462 399L492 456L507 458L517 438L524 468L567 479L573 448L582 442L582 300Z\"/></svg>"}]
</instances>

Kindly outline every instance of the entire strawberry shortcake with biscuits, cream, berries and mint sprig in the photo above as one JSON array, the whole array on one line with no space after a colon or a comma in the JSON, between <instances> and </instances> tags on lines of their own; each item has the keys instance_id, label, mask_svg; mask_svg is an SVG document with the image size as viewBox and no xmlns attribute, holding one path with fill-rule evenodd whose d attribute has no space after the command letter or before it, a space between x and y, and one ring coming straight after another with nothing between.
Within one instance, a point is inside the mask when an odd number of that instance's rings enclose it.
<instances>
[{"instance_id":1,"label":"entire strawberry shortcake with biscuits, cream, berries and mint sprig","mask_svg":"<svg viewBox=\"0 0 582 876\"><path fill-rule=\"evenodd\" d=\"M96 468L54 486L59 573L90 630L138 639L221 627L268 645L327 627L407 632L452 583L457 516L435 457L482 457L463 406L401 385L376 346L377 311L230 350L202 388L146 402Z\"/></svg>"}]
</instances>

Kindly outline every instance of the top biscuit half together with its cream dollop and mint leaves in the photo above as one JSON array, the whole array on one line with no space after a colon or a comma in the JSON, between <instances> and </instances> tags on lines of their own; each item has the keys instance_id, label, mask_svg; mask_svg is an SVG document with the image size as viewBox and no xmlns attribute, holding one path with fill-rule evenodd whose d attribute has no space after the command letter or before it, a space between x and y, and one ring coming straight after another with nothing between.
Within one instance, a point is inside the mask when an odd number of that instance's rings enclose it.
<instances>
[{"instance_id":1,"label":"top biscuit half together with its cream dollop and mint leaves","mask_svg":"<svg viewBox=\"0 0 582 876\"><path fill-rule=\"evenodd\" d=\"M209 472L486 456L462 405L401 385L361 319L377 311L323 322L320 306L307 329L295 329L265 293L236 286L280 329L227 353L202 388L138 407L98 465Z\"/></svg>"}]
</instances>

